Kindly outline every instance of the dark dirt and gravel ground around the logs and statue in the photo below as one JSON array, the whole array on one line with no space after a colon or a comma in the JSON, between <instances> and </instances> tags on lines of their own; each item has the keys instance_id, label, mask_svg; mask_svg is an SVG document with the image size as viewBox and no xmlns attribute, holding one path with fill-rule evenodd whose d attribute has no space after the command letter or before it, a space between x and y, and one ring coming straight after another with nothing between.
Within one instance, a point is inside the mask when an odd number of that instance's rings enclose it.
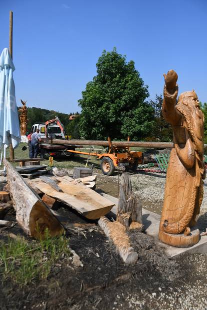
<instances>
[{"instance_id":1,"label":"dark dirt and gravel ground around the logs and statue","mask_svg":"<svg viewBox=\"0 0 207 310\"><path fill-rule=\"evenodd\" d=\"M112 177L95 172L96 189L118 197L118 172ZM165 175L139 173L131 175L131 182L143 207L160 214ZM23 288L10 281L1 283L1 310L207 309L207 254L168 260L152 238L130 234L138 261L127 266L96 222L86 221L67 207L56 211L66 225L92 224L89 230L68 229L69 245L83 267L75 268L62 258L46 281ZM206 211L201 217L203 227L207 226ZM22 234L18 226L9 232ZM0 238L6 234L1 231Z\"/></svg>"}]
</instances>

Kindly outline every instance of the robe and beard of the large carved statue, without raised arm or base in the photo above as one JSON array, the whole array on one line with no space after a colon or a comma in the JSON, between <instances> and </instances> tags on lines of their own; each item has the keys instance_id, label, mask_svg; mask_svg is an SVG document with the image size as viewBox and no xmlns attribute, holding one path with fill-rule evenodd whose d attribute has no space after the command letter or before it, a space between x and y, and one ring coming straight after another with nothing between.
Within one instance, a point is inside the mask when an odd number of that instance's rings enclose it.
<instances>
[{"instance_id":1,"label":"robe and beard of the large carved statue, without raised arm or base","mask_svg":"<svg viewBox=\"0 0 207 310\"><path fill-rule=\"evenodd\" d=\"M173 129L159 229L179 234L196 224L203 197L203 113L195 104L179 103L181 122Z\"/></svg>"}]
</instances>

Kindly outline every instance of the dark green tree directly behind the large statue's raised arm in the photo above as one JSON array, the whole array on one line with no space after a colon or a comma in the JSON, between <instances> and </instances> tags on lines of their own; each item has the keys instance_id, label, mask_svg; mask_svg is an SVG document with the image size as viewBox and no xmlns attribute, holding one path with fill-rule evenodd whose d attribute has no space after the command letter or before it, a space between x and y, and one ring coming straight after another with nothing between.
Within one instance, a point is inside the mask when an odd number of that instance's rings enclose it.
<instances>
[{"instance_id":1,"label":"dark green tree directly behind the large statue's raised arm","mask_svg":"<svg viewBox=\"0 0 207 310\"><path fill-rule=\"evenodd\" d=\"M157 95L155 101L150 100L150 105L154 109L154 126L151 131L152 139L156 141L168 142L172 141L172 128L169 123L167 123L161 112L163 97L162 95Z\"/></svg>"}]
</instances>

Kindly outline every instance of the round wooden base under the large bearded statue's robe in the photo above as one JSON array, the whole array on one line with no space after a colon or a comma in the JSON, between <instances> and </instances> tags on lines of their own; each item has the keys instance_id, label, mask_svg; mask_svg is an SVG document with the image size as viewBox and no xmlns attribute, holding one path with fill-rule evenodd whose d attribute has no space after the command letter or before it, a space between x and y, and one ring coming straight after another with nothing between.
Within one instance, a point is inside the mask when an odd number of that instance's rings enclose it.
<instances>
[{"instance_id":1,"label":"round wooden base under the large bearded statue's robe","mask_svg":"<svg viewBox=\"0 0 207 310\"><path fill-rule=\"evenodd\" d=\"M198 243L200 239L199 229L192 228L190 235L184 234L168 234L159 230L159 240L172 247L188 248Z\"/></svg>"}]
</instances>

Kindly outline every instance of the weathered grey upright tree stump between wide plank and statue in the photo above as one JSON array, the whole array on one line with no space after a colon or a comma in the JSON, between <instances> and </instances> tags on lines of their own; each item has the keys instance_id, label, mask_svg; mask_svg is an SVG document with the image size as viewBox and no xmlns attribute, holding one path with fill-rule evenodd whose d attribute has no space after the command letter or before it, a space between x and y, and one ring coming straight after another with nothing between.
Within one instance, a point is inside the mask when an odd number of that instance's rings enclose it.
<instances>
[{"instance_id":1,"label":"weathered grey upright tree stump between wide plank and statue","mask_svg":"<svg viewBox=\"0 0 207 310\"><path fill-rule=\"evenodd\" d=\"M121 223L126 230L143 230L141 204L132 192L131 180L127 172L121 174L116 221Z\"/></svg>"}]
</instances>

